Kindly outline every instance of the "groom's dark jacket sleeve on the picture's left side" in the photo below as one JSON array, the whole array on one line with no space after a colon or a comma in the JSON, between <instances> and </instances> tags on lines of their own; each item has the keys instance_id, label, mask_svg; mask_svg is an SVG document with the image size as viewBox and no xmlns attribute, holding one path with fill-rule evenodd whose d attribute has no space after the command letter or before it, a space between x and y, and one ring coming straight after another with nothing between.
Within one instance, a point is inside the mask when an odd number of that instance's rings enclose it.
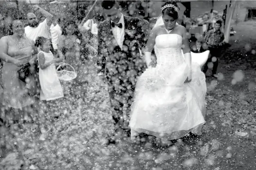
<instances>
[{"instance_id":1,"label":"groom's dark jacket sleeve on the picture's left side","mask_svg":"<svg viewBox=\"0 0 256 170\"><path fill-rule=\"evenodd\" d=\"M98 67L98 75L103 75L105 73L106 67L106 58L107 58L107 47L106 43L103 38L106 35L103 35L102 32L102 25L98 25L98 60L97 60L97 67Z\"/></svg>"}]
</instances>

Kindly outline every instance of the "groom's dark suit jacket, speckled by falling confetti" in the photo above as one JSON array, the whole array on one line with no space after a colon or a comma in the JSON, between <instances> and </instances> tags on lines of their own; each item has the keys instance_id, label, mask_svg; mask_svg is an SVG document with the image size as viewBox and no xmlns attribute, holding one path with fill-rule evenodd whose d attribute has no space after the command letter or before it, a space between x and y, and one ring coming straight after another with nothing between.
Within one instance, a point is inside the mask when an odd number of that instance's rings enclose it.
<instances>
[{"instance_id":1,"label":"groom's dark suit jacket, speckled by falling confetti","mask_svg":"<svg viewBox=\"0 0 256 170\"><path fill-rule=\"evenodd\" d=\"M139 49L145 47L150 27L146 20L124 16L124 28L121 49L112 34L111 21L99 23L98 74L105 74L111 84L117 79L129 79L129 82L135 85L137 77L145 68Z\"/></svg>"}]
</instances>

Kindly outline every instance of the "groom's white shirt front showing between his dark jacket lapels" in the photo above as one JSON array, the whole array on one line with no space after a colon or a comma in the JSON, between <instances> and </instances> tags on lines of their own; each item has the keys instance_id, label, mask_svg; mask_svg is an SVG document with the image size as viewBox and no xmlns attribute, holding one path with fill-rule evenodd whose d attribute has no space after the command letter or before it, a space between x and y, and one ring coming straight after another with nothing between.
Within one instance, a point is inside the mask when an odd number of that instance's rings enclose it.
<instances>
[{"instance_id":1,"label":"groom's white shirt front showing between his dark jacket lapels","mask_svg":"<svg viewBox=\"0 0 256 170\"><path fill-rule=\"evenodd\" d=\"M111 21L112 23L113 21ZM112 29L112 33L113 33L113 36L114 38L117 40L117 44L119 45L119 47L121 49L123 49L123 43L124 43L124 15L122 14L120 20L116 23L116 24L119 24L121 23L122 24L122 28L119 28L119 27L112 27L111 26L111 29Z\"/></svg>"}]
</instances>

